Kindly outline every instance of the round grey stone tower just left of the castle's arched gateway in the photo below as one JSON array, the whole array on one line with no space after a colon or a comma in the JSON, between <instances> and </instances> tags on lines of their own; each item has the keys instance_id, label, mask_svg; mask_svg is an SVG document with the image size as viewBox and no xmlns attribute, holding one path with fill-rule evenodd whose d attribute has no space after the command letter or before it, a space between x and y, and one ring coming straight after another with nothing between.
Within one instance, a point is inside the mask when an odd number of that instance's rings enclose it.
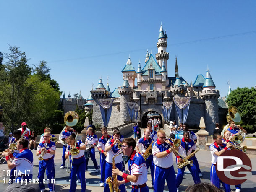
<instances>
[{"instance_id":1,"label":"round grey stone tower just left of the castle's arched gateway","mask_svg":"<svg viewBox=\"0 0 256 192\"><path fill-rule=\"evenodd\" d=\"M131 98L133 98L133 88L129 86L127 80L124 80L123 86L118 87L118 93L120 95L119 125L122 125L126 121L131 121L128 114L127 102L131 102Z\"/></svg>"}]
</instances>

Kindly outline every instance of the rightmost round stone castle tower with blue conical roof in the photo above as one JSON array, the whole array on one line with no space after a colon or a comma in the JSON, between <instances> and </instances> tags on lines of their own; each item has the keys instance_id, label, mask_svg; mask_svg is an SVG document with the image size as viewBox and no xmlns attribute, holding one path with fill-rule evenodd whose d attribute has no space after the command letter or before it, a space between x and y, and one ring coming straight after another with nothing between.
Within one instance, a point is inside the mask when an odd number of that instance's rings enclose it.
<instances>
[{"instance_id":1,"label":"rightmost round stone castle tower with blue conical roof","mask_svg":"<svg viewBox=\"0 0 256 192\"><path fill-rule=\"evenodd\" d=\"M209 134L213 134L215 123L219 122L219 90L215 90L215 84L212 80L209 69L207 69L203 90L199 91L199 96L205 101L204 117L206 130Z\"/></svg>"}]
</instances>

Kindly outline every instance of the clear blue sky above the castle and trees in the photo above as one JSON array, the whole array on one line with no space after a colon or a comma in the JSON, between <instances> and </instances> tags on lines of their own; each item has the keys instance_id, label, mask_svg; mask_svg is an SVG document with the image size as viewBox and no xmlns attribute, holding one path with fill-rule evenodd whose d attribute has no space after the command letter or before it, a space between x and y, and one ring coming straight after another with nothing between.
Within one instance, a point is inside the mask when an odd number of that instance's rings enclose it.
<instances>
[{"instance_id":1,"label":"clear blue sky above the castle and trees","mask_svg":"<svg viewBox=\"0 0 256 192\"><path fill-rule=\"evenodd\" d=\"M168 76L189 83L207 65L221 96L256 84L255 0L44 0L0 3L0 51L8 44L28 54L29 65L48 62L68 96L87 98L100 76L111 91L123 84L128 55L137 70L146 50L157 52L160 23L167 31ZM217 37L217 38L216 38ZM213 39L212 39L213 38Z\"/></svg>"}]
</instances>

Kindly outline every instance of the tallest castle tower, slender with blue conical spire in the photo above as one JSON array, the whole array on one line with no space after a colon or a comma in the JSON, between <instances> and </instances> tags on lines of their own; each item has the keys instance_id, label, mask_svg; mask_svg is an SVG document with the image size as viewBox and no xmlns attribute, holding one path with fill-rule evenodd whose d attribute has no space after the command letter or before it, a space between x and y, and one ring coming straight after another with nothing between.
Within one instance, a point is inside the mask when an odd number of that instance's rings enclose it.
<instances>
[{"instance_id":1,"label":"tallest castle tower, slender with blue conical spire","mask_svg":"<svg viewBox=\"0 0 256 192\"><path fill-rule=\"evenodd\" d=\"M157 42L156 60L160 67L162 67L162 61L165 62L165 69L166 69L167 75L168 75L167 60L169 59L169 53L166 52L166 48L167 48L167 35L166 35L166 31L164 33L163 26L161 23L160 30L159 30L159 36L158 36L158 42Z\"/></svg>"}]
</instances>

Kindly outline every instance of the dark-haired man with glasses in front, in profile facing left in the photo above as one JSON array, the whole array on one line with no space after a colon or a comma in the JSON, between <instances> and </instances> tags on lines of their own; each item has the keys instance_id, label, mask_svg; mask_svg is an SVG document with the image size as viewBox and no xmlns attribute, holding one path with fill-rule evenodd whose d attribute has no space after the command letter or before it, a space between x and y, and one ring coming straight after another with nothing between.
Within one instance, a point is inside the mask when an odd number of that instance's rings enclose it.
<instances>
[{"instance_id":1,"label":"dark-haired man with glasses in front, in profile facing left","mask_svg":"<svg viewBox=\"0 0 256 192\"><path fill-rule=\"evenodd\" d=\"M123 140L122 150L124 155L130 157L128 160L128 167L130 175L119 171L119 169L112 169L112 174L123 177L119 184L124 184L131 181L132 192L149 192L146 185L147 182L147 168L144 158L141 154L134 150L136 141L133 138L125 138Z\"/></svg>"}]
</instances>

